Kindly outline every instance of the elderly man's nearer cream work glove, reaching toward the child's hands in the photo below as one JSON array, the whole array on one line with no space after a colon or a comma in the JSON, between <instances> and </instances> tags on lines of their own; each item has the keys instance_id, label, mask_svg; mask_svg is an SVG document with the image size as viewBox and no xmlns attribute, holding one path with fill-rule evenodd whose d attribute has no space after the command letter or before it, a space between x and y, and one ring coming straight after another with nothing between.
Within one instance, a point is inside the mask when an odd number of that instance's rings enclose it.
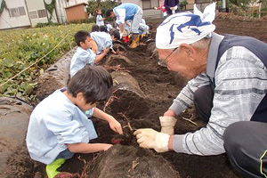
<instances>
[{"instance_id":1,"label":"elderly man's nearer cream work glove, reaching toward the child's hands","mask_svg":"<svg viewBox=\"0 0 267 178\"><path fill-rule=\"evenodd\" d=\"M158 133L151 128L142 128L134 132L139 146L144 149L154 149L157 152L168 151L170 135Z\"/></svg>"}]
</instances>

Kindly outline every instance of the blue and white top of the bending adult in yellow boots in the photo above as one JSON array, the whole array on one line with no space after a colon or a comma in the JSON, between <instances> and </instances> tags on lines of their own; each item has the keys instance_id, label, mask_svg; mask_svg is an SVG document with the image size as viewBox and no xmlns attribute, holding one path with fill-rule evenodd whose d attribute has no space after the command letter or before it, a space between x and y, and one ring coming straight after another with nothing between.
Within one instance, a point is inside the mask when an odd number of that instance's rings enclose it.
<instances>
[{"instance_id":1,"label":"blue and white top of the bending adult in yellow boots","mask_svg":"<svg viewBox=\"0 0 267 178\"><path fill-rule=\"evenodd\" d=\"M136 4L125 3L115 7L113 12L117 17L118 24L124 24L126 20L134 20L134 15L139 9L140 7Z\"/></svg>"}]
</instances>

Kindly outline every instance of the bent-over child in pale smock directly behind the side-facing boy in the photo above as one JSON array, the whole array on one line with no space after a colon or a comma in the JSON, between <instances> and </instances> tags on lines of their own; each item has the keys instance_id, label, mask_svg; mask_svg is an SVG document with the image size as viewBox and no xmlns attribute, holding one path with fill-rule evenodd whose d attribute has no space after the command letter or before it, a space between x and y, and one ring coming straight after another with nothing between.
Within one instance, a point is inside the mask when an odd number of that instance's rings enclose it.
<instances>
[{"instance_id":1,"label":"bent-over child in pale smock directly behind the side-facing boy","mask_svg":"<svg viewBox=\"0 0 267 178\"><path fill-rule=\"evenodd\" d=\"M105 48L109 47L112 50L112 53L116 53L112 47L112 42L119 39L119 32L117 30L111 30L110 33L106 32L93 32L91 37L97 45L97 54L101 53Z\"/></svg>"}]
</instances>

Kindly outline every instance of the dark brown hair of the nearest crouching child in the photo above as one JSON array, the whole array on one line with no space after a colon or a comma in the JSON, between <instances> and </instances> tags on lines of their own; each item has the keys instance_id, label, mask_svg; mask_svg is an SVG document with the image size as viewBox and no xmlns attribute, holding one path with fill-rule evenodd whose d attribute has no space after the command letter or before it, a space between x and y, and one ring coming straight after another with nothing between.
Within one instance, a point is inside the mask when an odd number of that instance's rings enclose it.
<instances>
[{"instance_id":1,"label":"dark brown hair of the nearest crouching child","mask_svg":"<svg viewBox=\"0 0 267 178\"><path fill-rule=\"evenodd\" d=\"M67 92L73 97L83 93L86 104L108 101L113 93L113 80L103 67L86 65L70 79Z\"/></svg>"}]
</instances>

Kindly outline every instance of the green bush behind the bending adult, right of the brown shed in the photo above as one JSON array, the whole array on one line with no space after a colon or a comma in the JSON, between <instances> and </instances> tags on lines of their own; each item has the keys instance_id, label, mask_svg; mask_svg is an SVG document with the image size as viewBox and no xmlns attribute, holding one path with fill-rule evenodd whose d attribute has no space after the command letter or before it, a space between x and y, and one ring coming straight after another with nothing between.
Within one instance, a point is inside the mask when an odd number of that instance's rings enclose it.
<instances>
[{"instance_id":1,"label":"green bush behind the bending adult, right of the brown shed","mask_svg":"<svg viewBox=\"0 0 267 178\"><path fill-rule=\"evenodd\" d=\"M89 0L88 6L87 6L87 12L91 13L93 16L96 16L96 10L101 9L102 16L105 16L105 12L108 9L113 9L116 7L119 2L116 0L110 0L110 1L101 1L101 0Z\"/></svg>"}]
</instances>

